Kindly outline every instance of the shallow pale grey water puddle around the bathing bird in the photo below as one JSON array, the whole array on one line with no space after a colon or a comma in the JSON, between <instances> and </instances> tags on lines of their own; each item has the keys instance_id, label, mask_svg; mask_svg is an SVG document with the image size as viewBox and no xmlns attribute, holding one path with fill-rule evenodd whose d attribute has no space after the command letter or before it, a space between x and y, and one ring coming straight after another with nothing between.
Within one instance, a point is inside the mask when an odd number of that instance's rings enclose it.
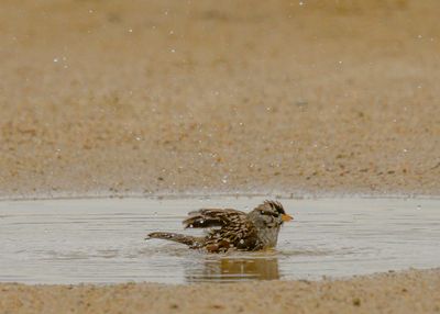
<instances>
[{"instance_id":1,"label":"shallow pale grey water puddle around the bathing bird","mask_svg":"<svg viewBox=\"0 0 440 314\"><path fill-rule=\"evenodd\" d=\"M440 266L440 200L280 199L295 221L273 251L209 255L153 231L199 208L250 211L263 198L0 202L0 281L184 283L319 279Z\"/></svg>"}]
</instances>

